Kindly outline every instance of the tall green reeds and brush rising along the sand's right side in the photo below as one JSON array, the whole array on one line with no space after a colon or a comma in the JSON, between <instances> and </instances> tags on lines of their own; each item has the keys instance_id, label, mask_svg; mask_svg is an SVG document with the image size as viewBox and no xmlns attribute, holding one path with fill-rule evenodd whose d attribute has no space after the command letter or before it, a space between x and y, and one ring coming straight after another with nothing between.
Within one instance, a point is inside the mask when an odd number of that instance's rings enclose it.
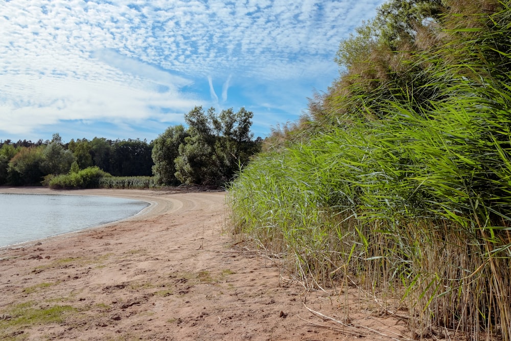
<instances>
[{"instance_id":1,"label":"tall green reeds and brush rising along the sand's right side","mask_svg":"<svg viewBox=\"0 0 511 341\"><path fill-rule=\"evenodd\" d=\"M443 4L408 51L393 16L395 34L311 107L313 129L268 139L229 188L233 232L308 285L356 275L398 295L422 336L510 340L511 8Z\"/></svg>"}]
</instances>

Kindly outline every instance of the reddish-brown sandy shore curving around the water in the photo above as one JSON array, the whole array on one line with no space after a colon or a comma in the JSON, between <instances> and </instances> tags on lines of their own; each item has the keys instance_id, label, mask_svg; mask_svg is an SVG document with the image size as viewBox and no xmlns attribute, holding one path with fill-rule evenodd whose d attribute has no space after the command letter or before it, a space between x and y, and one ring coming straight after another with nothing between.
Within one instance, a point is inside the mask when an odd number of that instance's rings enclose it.
<instances>
[{"instance_id":1,"label":"reddish-brown sandy shore curving around the water","mask_svg":"<svg viewBox=\"0 0 511 341\"><path fill-rule=\"evenodd\" d=\"M285 280L269 259L233 246L222 233L224 192L61 193L138 198L152 206L100 228L0 248L0 338L413 338L404 321L379 317L381 309L360 301L356 288L306 291L297 281ZM50 314L54 307L62 310L54 322L18 318L35 310Z\"/></svg>"}]
</instances>

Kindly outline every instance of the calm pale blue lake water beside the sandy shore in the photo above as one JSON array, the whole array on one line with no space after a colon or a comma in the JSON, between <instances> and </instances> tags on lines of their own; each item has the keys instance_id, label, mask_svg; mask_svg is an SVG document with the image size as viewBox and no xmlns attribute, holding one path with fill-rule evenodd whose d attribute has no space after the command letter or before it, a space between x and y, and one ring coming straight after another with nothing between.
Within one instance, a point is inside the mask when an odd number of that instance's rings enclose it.
<instances>
[{"instance_id":1,"label":"calm pale blue lake water beside the sandy shore","mask_svg":"<svg viewBox=\"0 0 511 341\"><path fill-rule=\"evenodd\" d=\"M125 219L148 206L148 202L124 198L0 193L0 246Z\"/></svg>"}]
</instances>

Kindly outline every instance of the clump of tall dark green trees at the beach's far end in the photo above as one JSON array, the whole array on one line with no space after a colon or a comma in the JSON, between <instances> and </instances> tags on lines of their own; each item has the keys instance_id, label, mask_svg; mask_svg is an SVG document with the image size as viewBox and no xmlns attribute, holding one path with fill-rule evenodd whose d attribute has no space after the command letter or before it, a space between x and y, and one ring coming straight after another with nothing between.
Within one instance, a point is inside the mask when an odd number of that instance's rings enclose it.
<instances>
[{"instance_id":1,"label":"clump of tall dark green trees at the beach's far end","mask_svg":"<svg viewBox=\"0 0 511 341\"><path fill-rule=\"evenodd\" d=\"M232 108L219 114L195 107L184 119L188 128L171 127L155 141L153 173L159 184L222 185L229 181L260 143L250 133L253 113Z\"/></svg>"}]
</instances>

